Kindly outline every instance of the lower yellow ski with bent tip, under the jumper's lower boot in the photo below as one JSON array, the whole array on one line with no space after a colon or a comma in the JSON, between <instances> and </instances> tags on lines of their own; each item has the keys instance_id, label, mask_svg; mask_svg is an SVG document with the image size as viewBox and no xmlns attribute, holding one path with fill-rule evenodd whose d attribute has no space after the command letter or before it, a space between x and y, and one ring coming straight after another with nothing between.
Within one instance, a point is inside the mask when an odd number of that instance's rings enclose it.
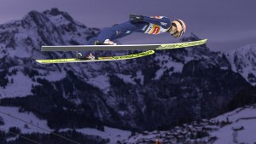
<instances>
[{"instance_id":1,"label":"lower yellow ski with bent tip, under the jumper's lower boot","mask_svg":"<svg viewBox=\"0 0 256 144\"><path fill-rule=\"evenodd\" d=\"M132 54L132 55L121 55L121 56L108 56L108 57L98 57L98 60L79 60L76 58L69 59L54 59L54 60L36 60L41 64L54 64L54 63L70 63L70 62L93 62L93 61L110 61L110 60L129 60L135 59L147 55L153 55L154 50L148 50L142 53Z\"/></svg>"}]
</instances>

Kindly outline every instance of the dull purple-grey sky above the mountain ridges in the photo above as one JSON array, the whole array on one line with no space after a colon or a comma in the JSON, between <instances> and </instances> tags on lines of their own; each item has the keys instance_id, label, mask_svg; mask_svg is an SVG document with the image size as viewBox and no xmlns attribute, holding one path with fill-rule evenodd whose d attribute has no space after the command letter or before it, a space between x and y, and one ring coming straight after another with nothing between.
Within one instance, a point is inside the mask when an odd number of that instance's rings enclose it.
<instances>
[{"instance_id":1,"label":"dull purple-grey sky above the mountain ridges","mask_svg":"<svg viewBox=\"0 0 256 144\"><path fill-rule=\"evenodd\" d=\"M58 8L89 27L108 27L129 19L129 14L163 15L181 19L215 51L229 51L256 43L255 0L0 0L0 24L22 19L29 11ZM124 44L177 43L168 33L132 34Z\"/></svg>"}]
</instances>

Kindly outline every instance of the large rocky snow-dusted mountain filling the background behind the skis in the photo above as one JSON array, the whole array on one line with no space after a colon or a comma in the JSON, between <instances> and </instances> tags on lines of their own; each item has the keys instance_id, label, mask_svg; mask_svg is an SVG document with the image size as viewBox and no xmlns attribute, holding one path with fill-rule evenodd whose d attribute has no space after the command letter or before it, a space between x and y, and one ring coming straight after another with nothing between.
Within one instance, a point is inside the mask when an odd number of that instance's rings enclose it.
<instances>
[{"instance_id":1,"label":"large rocky snow-dusted mountain filling the background behind the skis","mask_svg":"<svg viewBox=\"0 0 256 144\"><path fill-rule=\"evenodd\" d=\"M34 60L73 57L74 52L41 52L40 47L84 44L99 32L58 9L32 11L1 25L0 104L33 112L56 130L102 130L103 125L166 130L228 111L233 95L251 87L238 66L234 69L240 60L234 64L207 45L159 50L134 60L50 65ZM195 34L181 39L194 40L199 40Z\"/></svg>"}]
</instances>

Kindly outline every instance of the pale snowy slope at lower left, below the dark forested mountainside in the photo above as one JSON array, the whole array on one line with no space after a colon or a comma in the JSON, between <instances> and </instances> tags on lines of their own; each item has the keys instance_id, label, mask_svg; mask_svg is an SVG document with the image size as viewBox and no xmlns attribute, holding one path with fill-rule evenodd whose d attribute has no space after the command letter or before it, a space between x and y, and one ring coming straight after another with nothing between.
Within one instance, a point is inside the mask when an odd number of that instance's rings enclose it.
<instances>
[{"instance_id":1,"label":"pale snowy slope at lower left, below the dark forested mountainside","mask_svg":"<svg viewBox=\"0 0 256 144\"><path fill-rule=\"evenodd\" d=\"M54 131L47 126L46 120L39 119L32 112L19 112L19 108L17 107L0 107L0 120L3 122L3 125L0 124L0 130L8 131L10 128L15 127L20 129L20 133L22 134L49 134ZM67 130L70 129L60 131L63 132ZM76 131L84 135L97 135L104 139L109 139L109 144L128 139L131 135L131 131L109 128L107 126L104 127L104 131L90 128L76 129ZM10 130L10 132L14 131ZM56 138L57 137L58 136L56 136Z\"/></svg>"}]
</instances>

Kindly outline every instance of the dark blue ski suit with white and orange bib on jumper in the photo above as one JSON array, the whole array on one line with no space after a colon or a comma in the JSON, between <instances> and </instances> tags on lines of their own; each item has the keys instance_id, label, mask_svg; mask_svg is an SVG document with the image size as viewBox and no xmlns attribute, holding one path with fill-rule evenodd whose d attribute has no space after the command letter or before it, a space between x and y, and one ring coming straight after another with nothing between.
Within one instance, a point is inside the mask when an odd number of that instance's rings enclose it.
<instances>
[{"instance_id":1,"label":"dark blue ski suit with white and orange bib on jumper","mask_svg":"<svg viewBox=\"0 0 256 144\"><path fill-rule=\"evenodd\" d=\"M143 16L143 21L132 22L125 21L124 23L114 25L102 30L97 37L90 38L86 44L94 45L98 40L100 43L104 43L106 39L114 41L121 37L131 35L133 32L142 32L148 34L160 34L166 32L171 26L171 20L165 16ZM82 52L83 55L88 55L90 52Z\"/></svg>"}]
</instances>

